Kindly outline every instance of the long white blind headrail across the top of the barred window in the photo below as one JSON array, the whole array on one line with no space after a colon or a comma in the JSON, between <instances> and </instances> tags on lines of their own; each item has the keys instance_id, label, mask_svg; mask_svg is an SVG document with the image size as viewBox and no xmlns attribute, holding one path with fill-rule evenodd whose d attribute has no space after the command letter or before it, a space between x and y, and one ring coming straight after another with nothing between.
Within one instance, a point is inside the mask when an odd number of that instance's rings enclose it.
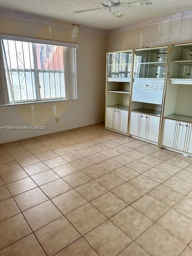
<instances>
[{"instance_id":1,"label":"long white blind headrail across the top of the barred window","mask_svg":"<svg viewBox=\"0 0 192 256\"><path fill-rule=\"evenodd\" d=\"M45 40L45 39L39 39L39 38L30 38L30 37L24 37L24 36L12 36L7 34L0 34L0 39L16 40L16 41L32 42L32 43L40 43L40 44L53 44L53 45L59 45L59 46L68 46L68 47L78 48L78 44L76 43Z\"/></svg>"}]
</instances>

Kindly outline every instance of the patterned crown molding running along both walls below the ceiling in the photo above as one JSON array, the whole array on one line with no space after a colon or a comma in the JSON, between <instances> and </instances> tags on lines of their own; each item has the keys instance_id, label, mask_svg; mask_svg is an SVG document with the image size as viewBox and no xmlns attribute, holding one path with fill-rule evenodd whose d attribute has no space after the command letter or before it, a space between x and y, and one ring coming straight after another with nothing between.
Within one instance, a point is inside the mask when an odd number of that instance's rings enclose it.
<instances>
[{"instance_id":1,"label":"patterned crown molding running along both walls below the ceiling","mask_svg":"<svg viewBox=\"0 0 192 256\"><path fill-rule=\"evenodd\" d=\"M40 16L35 16L35 15L26 14L26 13L22 13L22 12L14 12L14 11L6 10L6 9L0 9L0 15L3 15L8 18L26 20L26 21L30 21L30 22L37 22L37 23L42 23L42 24L48 24L51 26L58 26L58 27L70 29L67 26L62 26L62 25L56 24L55 21L52 19L42 18ZM136 28L143 28L143 27L152 26L152 25L156 25L156 24L171 22L174 20L186 19L186 18L190 18L190 17L192 17L192 10L188 10L185 12L179 12L176 14L172 14L172 15L168 15L168 16L164 16L164 17L160 17L160 18L155 18L152 20L137 22L137 23L129 24L127 26L113 28L110 30L91 28L91 27L83 26L83 25L78 25L78 26L80 27L80 29L82 31L85 31L85 32L107 35L107 34L115 34L115 33L120 33L120 32L124 32L124 31L128 31L128 30L133 30Z\"/></svg>"}]
</instances>

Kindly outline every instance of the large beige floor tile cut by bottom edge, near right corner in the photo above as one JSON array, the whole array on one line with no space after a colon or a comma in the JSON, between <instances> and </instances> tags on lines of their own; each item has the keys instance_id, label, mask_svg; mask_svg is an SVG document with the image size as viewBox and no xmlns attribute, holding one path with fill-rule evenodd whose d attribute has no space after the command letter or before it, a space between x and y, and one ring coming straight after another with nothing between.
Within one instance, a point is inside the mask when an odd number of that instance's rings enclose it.
<instances>
[{"instance_id":1,"label":"large beige floor tile cut by bottom edge, near right corner","mask_svg":"<svg viewBox=\"0 0 192 256\"><path fill-rule=\"evenodd\" d=\"M136 242L153 256L179 256L186 246L157 224L153 224Z\"/></svg>"}]
</instances>

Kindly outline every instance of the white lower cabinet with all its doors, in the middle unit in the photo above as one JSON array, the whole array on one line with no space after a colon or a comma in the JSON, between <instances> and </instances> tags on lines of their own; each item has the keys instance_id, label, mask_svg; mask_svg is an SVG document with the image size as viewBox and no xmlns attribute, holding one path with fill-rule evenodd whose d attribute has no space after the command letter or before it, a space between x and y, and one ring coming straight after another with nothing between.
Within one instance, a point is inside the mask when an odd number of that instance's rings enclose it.
<instances>
[{"instance_id":1,"label":"white lower cabinet with all its doors, in the middle unit","mask_svg":"<svg viewBox=\"0 0 192 256\"><path fill-rule=\"evenodd\" d=\"M133 111L130 115L130 134L157 143L160 117Z\"/></svg>"}]
</instances>

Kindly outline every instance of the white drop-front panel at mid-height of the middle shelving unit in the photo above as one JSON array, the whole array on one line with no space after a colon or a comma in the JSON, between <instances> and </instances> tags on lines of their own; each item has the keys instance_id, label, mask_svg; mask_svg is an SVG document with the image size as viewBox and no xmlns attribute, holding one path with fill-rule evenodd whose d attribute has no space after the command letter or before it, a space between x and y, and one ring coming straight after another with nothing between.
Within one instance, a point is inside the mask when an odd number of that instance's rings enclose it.
<instances>
[{"instance_id":1,"label":"white drop-front panel at mid-height of the middle shelving unit","mask_svg":"<svg viewBox=\"0 0 192 256\"><path fill-rule=\"evenodd\" d=\"M134 79L132 101L162 104L164 79Z\"/></svg>"}]
</instances>

